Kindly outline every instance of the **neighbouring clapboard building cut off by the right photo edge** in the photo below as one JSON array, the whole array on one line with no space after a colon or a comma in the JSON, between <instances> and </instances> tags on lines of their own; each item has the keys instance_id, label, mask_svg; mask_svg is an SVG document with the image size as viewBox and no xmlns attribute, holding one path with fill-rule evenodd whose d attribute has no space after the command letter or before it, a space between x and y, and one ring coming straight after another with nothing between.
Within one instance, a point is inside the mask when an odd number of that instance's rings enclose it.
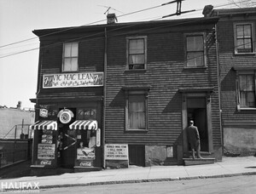
<instances>
[{"instance_id":1,"label":"neighbouring clapboard building cut off by the right photo edge","mask_svg":"<svg viewBox=\"0 0 256 194\"><path fill-rule=\"evenodd\" d=\"M224 154L249 156L256 151L256 8L209 9L219 17L220 69Z\"/></svg>"}]
</instances>

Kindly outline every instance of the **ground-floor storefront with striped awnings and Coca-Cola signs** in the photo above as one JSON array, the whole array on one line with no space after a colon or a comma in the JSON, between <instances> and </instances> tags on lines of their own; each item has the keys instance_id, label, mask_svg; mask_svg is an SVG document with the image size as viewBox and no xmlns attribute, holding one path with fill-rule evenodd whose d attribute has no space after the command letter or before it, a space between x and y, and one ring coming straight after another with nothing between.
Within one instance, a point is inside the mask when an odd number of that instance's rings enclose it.
<instances>
[{"instance_id":1,"label":"ground-floor storefront with striped awnings and Coca-Cola signs","mask_svg":"<svg viewBox=\"0 0 256 194\"><path fill-rule=\"evenodd\" d=\"M38 121L31 126L36 129L32 167L101 167L102 139L96 108L63 108L47 118L55 120Z\"/></svg>"}]
</instances>

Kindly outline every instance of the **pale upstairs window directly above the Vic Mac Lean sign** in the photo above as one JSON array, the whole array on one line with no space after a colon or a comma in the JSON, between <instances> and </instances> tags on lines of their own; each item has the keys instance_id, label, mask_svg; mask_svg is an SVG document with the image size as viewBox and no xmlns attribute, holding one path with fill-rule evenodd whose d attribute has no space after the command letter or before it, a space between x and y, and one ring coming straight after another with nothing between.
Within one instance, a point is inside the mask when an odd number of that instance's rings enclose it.
<instances>
[{"instance_id":1,"label":"pale upstairs window directly above the Vic Mac Lean sign","mask_svg":"<svg viewBox=\"0 0 256 194\"><path fill-rule=\"evenodd\" d=\"M79 71L79 43L64 43L62 71Z\"/></svg>"}]
</instances>

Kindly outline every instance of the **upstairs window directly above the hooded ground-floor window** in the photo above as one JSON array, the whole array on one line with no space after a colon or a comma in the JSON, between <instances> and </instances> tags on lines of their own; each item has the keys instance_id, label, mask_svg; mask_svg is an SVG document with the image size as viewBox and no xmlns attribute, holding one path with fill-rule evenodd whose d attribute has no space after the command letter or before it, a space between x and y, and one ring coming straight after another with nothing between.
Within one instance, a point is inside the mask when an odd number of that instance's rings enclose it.
<instances>
[{"instance_id":1,"label":"upstairs window directly above the hooded ground-floor window","mask_svg":"<svg viewBox=\"0 0 256 194\"><path fill-rule=\"evenodd\" d=\"M127 64L129 70L146 69L147 39L146 37L127 38Z\"/></svg>"}]
</instances>

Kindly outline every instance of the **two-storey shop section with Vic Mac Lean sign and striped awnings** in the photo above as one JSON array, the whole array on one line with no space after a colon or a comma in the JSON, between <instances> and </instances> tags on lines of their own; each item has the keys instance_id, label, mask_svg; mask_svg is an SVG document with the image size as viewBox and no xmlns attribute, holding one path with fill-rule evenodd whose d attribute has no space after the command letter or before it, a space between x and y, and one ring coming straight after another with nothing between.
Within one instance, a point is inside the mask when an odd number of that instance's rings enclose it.
<instances>
[{"instance_id":1,"label":"two-storey shop section with Vic Mac Lean sign and striped awnings","mask_svg":"<svg viewBox=\"0 0 256 194\"><path fill-rule=\"evenodd\" d=\"M32 100L34 169L102 168L104 28L99 30L33 31L40 40L37 98Z\"/></svg>"}]
</instances>

